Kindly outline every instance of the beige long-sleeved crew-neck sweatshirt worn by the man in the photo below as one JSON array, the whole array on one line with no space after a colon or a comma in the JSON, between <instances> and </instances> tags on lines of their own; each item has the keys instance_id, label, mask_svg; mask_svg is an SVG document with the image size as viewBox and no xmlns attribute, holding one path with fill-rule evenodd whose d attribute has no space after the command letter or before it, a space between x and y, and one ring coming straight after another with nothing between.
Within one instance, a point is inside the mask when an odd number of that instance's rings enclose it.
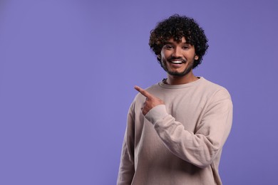
<instances>
[{"instance_id":1,"label":"beige long-sleeved crew-neck sweatshirt worn by the man","mask_svg":"<svg viewBox=\"0 0 278 185\"><path fill-rule=\"evenodd\" d=\"M117 184L222 184L218 166L232 126L227 90L205 78L184 85L160 82L147 90L165 105L144 117L145 97L135 97Z\"/></svg>"}]
</instances>

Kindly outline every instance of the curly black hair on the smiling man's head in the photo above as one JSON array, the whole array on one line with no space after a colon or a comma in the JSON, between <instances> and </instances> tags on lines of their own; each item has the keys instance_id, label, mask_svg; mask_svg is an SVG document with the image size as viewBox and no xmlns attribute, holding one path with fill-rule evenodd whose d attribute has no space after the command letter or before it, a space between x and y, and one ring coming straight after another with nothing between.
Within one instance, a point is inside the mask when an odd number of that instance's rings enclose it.
<instances>
[{"instance_id":1,"label":"curly black hair on the smiling man's head","mask_svg":"<svg viewBox=\"0 0 278 185\"><path fill-rule=\"evenodd\" d=\"M149 46L158 56L170 38L180 43L182 37L185 37L186 42L195 47L195 53L199 57L194 61L193 68L195 68L202 62L202 57L208 48L208 40L205 31L193 18L175 14L159 22L155 29L150 31ZM161 63L160 58L157 59Z\"/></svg>"}]
</instances>

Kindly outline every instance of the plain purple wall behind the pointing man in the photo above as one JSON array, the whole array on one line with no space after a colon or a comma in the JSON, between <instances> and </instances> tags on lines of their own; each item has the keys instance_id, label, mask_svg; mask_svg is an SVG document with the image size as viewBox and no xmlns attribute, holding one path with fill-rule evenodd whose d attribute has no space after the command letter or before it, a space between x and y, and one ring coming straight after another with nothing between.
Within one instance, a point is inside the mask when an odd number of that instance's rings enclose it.
<instances>
[{"instance_id":1,"label":"plain purple wall behind the pointing man","mask_svg":"<svg viewBox=\"0 0 278 185\"><path fill-rule=\"evenodd\" d=\"M155 23L195 18L210 48L196 75L233 98L224 184L276 184L278 3L0 1L0 184L115 184L136 92L165 77Z\"/></svg>"}]
</instances>

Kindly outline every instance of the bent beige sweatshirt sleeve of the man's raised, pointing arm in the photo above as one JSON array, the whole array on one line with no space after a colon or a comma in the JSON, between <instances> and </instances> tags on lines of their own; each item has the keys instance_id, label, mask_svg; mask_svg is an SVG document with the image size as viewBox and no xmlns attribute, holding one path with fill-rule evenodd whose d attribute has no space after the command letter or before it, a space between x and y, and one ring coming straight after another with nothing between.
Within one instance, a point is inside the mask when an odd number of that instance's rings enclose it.
<instances>
[{"instance_id":1,"label":"bent beige sweatshirt sleeve of the man's raised, pointing arm","mask_svg":"<svg viewBox=\"0 0 278 185\"><path fill-rule=\"evenodd\" d=\"M153 107L145 118L153 123L158 136L173 154L205 168L221 151L230 133L232 100L227 90L215 93L194 133L168 114L165 105Z\"/></svg>"}]
</instances>

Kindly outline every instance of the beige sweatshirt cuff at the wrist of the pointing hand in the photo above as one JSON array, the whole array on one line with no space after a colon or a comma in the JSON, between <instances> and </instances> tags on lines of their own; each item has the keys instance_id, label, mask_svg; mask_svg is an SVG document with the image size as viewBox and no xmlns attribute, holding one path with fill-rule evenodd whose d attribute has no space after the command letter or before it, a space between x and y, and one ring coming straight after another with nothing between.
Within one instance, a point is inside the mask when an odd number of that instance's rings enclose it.
<instances>
[{"instance_id":1,"label":"beige sweatshirt cuff at the wrist of the pointing hand","mask_svg":"<svg viewBox=\"0 0 278 185\"><path fill-rule=\"evenodd\" d=\"M147 115L145 115L145 118L151 122L153 125L155 125L155 122L158 122L158 120L163 119L165 116L168 115L168 112L166 111L165 105L157 105L153 107Z\"/></svg>"}]
</instances>

